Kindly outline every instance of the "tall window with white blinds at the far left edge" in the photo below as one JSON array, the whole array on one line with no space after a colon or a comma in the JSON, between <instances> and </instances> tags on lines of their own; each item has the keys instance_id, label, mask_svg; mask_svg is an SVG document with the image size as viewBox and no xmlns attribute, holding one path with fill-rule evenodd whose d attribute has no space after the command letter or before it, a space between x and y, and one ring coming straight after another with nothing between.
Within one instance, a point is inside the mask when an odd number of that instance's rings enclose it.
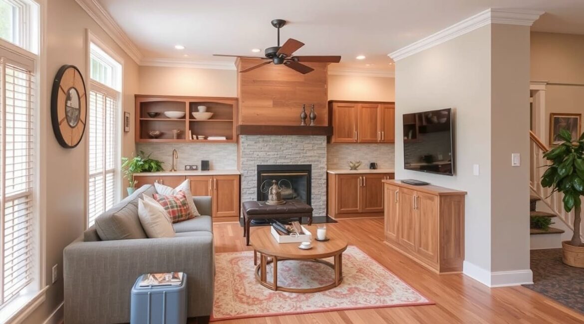
<instances>
[{"instance_id":1,"label":"tall window with white blinds at the far left edge","mask_svg":"<svg viewBox=\"0 0 584 324\"><path fill-rule=\"evenodd\" d=\"M41 288L35 125L39 8L0 0L0 322Z\"/></svg>"}]
</instances>

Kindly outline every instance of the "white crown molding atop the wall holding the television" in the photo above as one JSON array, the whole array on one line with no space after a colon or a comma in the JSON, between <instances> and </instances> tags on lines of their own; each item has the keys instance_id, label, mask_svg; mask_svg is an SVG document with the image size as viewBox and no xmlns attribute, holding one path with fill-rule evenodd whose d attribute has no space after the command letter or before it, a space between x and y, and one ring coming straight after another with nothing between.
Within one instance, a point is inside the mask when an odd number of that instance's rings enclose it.
<instances>
[{"instance_id":1,"label":"white crown molding atop the wall holding the television","mask_svg":"<svg viewBox=\"0 0 584 324\"><path fill-rule=\"evenodd\" d=\"M475 29L486 26L488 24L515 24L520 26L531 26L543 12L533 10L515 10L515 9L487 9L483 12L477 13L472 17L453 24L446 29L440 30L428 37L422 38L415 43L406 47L400 48L395 52L388 54L394 61L399 61L402 58L419 53L428 48L432 48L438 44L442 44L453 38L469 33Z\"/></svg>"}]
</instances>

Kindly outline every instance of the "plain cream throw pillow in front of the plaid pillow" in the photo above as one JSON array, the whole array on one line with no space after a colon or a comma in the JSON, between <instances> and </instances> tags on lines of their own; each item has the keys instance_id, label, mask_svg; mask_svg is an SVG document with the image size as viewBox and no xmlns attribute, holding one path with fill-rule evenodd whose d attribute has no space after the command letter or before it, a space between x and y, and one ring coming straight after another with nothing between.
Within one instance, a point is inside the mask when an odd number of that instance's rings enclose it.
<instances>
[{"instance_id":1,"label":"plain cream throw pillow in front of the plaid pillow","mask_svg":"<svg viewBox=\"0 0 584 324\"><path fill-rule=\"evenodd\" d=\"M171 217L162 205L147 195L138 199L138 218L149 238L175 237Z\"/></svg>"}]
</instances>

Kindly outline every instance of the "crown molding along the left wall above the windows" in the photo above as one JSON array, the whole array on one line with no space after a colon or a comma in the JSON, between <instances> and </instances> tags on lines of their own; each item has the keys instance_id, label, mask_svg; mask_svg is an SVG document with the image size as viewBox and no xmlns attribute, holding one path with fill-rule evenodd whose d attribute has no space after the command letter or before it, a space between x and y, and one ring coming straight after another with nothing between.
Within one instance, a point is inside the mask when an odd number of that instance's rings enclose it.
<instances>
[{"instance_id":1,"label":"crown molding along the left wall above the windows","mask_svg":"<svg viewBox=\"0 0 584 324\"><path fill-rule=\"evenodd\" d=\"M75 0L95 20L109 37L118 44L128 56L137 64L142 60L142 53L130 38L121 30L113 17L103 8L97 0Z\"/></svg>"}]
</instances>

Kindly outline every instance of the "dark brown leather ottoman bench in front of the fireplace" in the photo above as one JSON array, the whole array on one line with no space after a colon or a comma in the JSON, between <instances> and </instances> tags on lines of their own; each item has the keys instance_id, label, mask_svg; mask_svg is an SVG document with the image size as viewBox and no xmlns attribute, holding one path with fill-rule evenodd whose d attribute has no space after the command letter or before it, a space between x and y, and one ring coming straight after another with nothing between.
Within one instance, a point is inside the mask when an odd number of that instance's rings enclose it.
<instances>
[{"instance_id":1,"label":"dark brown leather ottoman bench in front of the fireplace","mask_svg":"<svg viewBox=\"0 0 584 324\"><path fill-rule=\"evenodd\" d=\"M286 200L284 205L267 205L266 202L244 202L244 237L249 245L249 223L252 219L291 219L308 217L308 225L312 224L312 207L300 200Z\"/></svg>"}]
</instances>

